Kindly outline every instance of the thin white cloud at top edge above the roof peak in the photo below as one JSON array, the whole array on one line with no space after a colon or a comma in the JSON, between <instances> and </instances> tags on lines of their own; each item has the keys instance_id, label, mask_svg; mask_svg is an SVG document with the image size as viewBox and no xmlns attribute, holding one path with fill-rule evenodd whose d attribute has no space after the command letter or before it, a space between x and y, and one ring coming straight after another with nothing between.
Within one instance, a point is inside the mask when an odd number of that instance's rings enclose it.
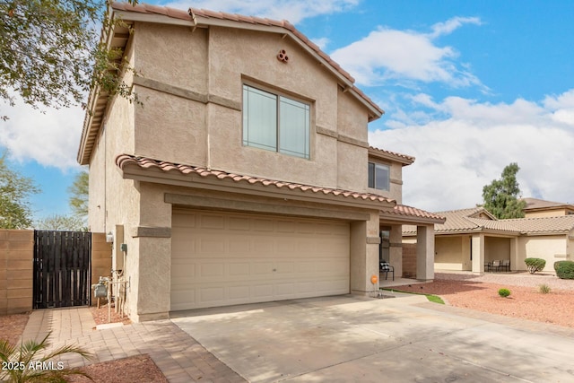
<instances>
[{"instance_id":1,"label":"thin white cloud at top edge above the roof peak","mask_svg":"<svg viewBox=\"0 0 574 383\"><path fill-rule=\"evenodd\" d=\"M239 13L248 16L266 17L274 20L288 20L296 24L303 19L344 12L359 4L361 0L199 0L164 2L176 9L204 8L210 11Z\"/></svg>"}]
</instances>

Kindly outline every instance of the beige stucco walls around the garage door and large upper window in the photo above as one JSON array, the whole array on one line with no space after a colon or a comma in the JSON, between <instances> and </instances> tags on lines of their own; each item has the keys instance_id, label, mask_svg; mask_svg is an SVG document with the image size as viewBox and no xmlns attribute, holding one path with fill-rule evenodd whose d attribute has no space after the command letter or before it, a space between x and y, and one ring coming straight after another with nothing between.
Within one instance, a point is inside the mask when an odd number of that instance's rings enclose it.
<instances>
[{"instance_id":1,"label":"beige stucco walls around the garage door and large upper window","mask_svg":"<svg viewBox=\"0 0 574 383\"><path fill-rule=\"evenodd\" d=\"M130 64L148 82L134 86L143 106L124 99L109 106L91 157L90 225L102 232L123 225L124 238L116 240L127 246L126 312L140 321L167 318L170 309L172 205L165 194L196 196L198 191L123 179L115 164L118 154L366 191L367 109L340 91L333 74L315 58L281 35L136 22L131 39ZM289 64L276 59L280 49L287 51ZM245 82L309 101L309 160L242 145ZM176 88L194 96L177 96ZM241 199L229 194L222 198ZM309 203L297 206L314 208ZM378 289L370 283L370 276L378 274L378 244L366 243L367 237L378 238L378 212L365 214L370 220L353 222L351 229L350 287L363 293ZM114 257L123 255L114 250Z\"/></svg>"}]
</instances>

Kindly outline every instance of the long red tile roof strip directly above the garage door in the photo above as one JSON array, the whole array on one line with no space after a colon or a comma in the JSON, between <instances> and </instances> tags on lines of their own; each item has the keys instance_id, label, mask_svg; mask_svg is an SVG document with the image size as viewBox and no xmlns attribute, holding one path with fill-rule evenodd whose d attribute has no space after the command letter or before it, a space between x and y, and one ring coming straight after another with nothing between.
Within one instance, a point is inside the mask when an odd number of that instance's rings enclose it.
<instances>
[{"instance_id":1,"label":"long red tile roof strip directly above the garage door","mask_svg":"<svg viewBox=\"0 0 574 383\"><path fill-rule=\"evenodd\" d=\"M344 198L352 198L354 200L364 200L371 202L379 202L396 205L395 200L378 196L371 193L360 193L350 190L337 189L332 187L318 187L312 185L304 185L295 182L280 181L269 178L259 178L253 176L242 176L239 174L229 173L222 170L210 170L204 167L185 165L174 163L170 161L154 160L147 157L136 157L129 154L120 154L116 157L116 165L120 170L126 170L129 166L135 166L142 170L159 170L164 173L179 173L186 176L197 176L200 178L212 179L229 179L236 183L247 183L251 185L261 185L265 187L277 187L289 190L300 190L301 192L309 192L313 194L339 196Z\"/></svg>"}]
</instances>

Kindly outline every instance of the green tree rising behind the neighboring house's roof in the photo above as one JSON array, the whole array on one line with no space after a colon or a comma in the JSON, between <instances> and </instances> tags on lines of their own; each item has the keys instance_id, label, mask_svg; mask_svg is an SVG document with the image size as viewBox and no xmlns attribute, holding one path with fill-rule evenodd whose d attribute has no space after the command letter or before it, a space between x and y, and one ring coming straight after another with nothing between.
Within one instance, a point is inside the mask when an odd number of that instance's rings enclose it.
<instances>
[{"instance_id":1,"label":"green tree rising behind the neighboring house's roof","mask_svg":"<svg viewBox=\"0 0 574 383\"><path fill-rule=\"evenodd\" d=\"M524 217L526 202L518 199L518 170L518 164L512 162L502 170L500 179L494 179L483 187L484 208L499 219Z\"/></svg>"}]
</instances>

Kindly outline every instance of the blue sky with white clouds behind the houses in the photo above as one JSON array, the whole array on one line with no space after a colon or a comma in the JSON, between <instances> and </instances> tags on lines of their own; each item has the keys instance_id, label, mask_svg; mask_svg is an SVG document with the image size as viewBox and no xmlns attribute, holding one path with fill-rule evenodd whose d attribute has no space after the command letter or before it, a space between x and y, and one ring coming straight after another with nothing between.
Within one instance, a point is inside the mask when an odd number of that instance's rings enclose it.
<instances>
[{"instance_id":1,"label":"blue sky with white clouds behind the houses","mask_svg":"<svg viewBox=\"0 0 574 383\"><path fill-rule=\"evenodd\" d=\"M200 0L147 3L286 19L385 110L369 143L412 155L403 203L482 203L517 162L522 196L574 204L574 2ZM37 218L70 213L81 108L0 104L0 152L42 193Z\"/></svg>"}]
</instances>

